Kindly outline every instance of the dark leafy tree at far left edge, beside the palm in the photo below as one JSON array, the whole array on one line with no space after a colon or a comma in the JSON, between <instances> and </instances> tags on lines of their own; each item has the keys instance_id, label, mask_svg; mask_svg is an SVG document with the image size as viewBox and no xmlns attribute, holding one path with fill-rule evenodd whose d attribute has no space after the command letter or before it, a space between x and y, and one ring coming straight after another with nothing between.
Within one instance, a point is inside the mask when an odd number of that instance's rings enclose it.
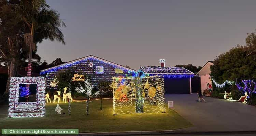
<instances>
[{"instance_id":1,"label":"dark leafy tree at far left edge, beside the palm","mask_svg":"<svg viewBox=\"0 0 256 136\"><path fill-rule=\"evenodd\" d=\"M23 23L15 19L18 1L0 2L0 63L8 67L8 82L4 96L9 94L10 78L17 75L20 53L25 49Z\"/></svg>"}]
</instances>

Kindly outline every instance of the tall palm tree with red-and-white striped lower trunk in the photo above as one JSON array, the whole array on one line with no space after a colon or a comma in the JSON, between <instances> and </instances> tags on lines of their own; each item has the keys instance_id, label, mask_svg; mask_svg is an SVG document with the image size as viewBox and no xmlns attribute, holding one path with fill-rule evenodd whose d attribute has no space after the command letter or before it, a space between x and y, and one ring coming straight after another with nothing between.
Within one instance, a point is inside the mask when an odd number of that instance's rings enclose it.
<instances>
[{"instance_id":1,"label":"tall palm tree with red-and-white striped lower trunk","mask_svg":"<svg viewBox=\"0 0 256 136\"><path fill-rule=\"evenodd\" d=\"M66 24L59 18L60 14L49 7L45 0L22 0L16 9L17 18L25 22L30 30L24 34L24 40L29 47L28 77L31 75L32 50L35 50L35 43L41 42L36 39L43 37L65 45L64 35L59 27L66 27Z\"/></svg>"}]
</instances>

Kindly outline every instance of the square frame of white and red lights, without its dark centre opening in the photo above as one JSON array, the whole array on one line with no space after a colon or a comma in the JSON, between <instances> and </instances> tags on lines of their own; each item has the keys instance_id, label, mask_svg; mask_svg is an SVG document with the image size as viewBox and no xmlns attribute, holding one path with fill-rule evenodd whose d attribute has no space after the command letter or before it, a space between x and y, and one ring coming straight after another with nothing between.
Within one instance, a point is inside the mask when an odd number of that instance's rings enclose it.
<instances>
[{"instance_id":1,"label":"square frame of white and red lights, without its dark centre opening","mask_svg":"<svg viewBox=\"0 0 256 136\"><path fill-rule=\"evenodd\" d=\"M37 84L36 102L18 102L19 84ZM9 117L42 117L45 115L44 77L12 77L9 96Z\"/></svg>"}]
</instances>

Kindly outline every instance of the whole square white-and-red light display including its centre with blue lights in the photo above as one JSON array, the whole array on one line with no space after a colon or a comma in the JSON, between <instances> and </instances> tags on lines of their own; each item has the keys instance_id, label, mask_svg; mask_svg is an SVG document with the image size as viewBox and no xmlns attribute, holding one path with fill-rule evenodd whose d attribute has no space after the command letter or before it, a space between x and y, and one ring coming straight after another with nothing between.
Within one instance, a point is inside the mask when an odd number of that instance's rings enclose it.
<instances>
[{"instance_id":1,"label":"whole square white-and-red light display including its centre with blue lights","mask_svg":"<svg viewBox=\"0 0 256 136\"><path fill-rule=\"evenodd\" d=\"M9 117L42 117L45 114L45 78L12 77Z\"/></svg>"}]
</instances>

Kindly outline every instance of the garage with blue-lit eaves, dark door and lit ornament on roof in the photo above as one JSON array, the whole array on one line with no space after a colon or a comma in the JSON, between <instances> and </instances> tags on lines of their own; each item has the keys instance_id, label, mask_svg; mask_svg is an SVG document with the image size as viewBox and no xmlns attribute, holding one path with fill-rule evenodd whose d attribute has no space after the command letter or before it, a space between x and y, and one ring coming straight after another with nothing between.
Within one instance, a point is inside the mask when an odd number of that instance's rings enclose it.
<instances>
[{"instance_id":1,"label":"garage with blue-lit eaves, dark door and lit ornament on roof","mask_svg":"<svg viewBox=\"0 0 256 136\"><path fill-rule=\"evenodd\" d=\"M191 78L194 73L183 67L165 67L165 60L160 60L160 66L140 67L145 75L162 75L166 94L191 94Z\"/></svg>"}]
</instances>

